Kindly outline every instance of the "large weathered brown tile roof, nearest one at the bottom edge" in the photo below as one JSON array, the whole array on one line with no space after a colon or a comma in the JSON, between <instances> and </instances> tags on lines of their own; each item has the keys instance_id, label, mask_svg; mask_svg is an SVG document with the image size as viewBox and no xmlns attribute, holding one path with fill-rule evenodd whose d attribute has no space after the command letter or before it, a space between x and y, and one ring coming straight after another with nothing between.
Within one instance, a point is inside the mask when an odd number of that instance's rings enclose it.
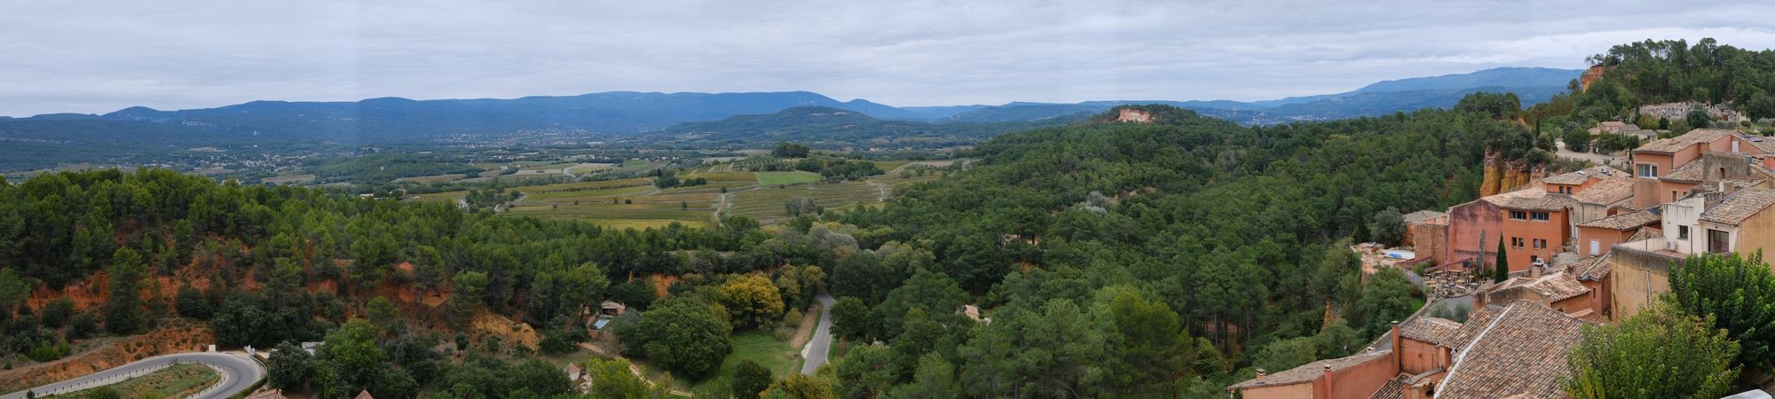
<instances>
[{"instance_id":1,"label":"large weathered brown tile roof, nearest one at the bottom edge","mask_svg":"<svg viewBox=\"0 0 1775 399\"><path fill-rule=\"evenodd\" d=\"M1566 353L1582 340L1585 321L1530 301L1502 310L1486 307L1484 321L1468 323L1473 337L1456 351L1438 397L1566 397ZM1477 316L1477 314L1475 314Z\"/></svg>"}]
</instances>

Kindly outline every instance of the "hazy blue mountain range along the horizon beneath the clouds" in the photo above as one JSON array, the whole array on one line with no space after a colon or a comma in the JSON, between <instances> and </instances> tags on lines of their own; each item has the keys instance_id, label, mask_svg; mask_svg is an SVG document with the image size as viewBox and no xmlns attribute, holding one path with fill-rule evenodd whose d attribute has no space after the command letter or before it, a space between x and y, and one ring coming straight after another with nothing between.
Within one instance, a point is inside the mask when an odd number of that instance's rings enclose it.
<instances>
[{"instance_id":1,"label":"hazy blue mountain range along the horizon beneath the clouds","mask_svg":"<svg viewBox=\"0 0 1775 399\"><path fill-rule=\"evenodd\" d=\"M1006 129L1058 124L1116 105L1164 103L1242 124L1276 124L1386 115L1454 106L1477 90L1516 92L1525 105L1546 101L1578 78L1578 69L1498 67L1466 74L1388 80L1351 92L1271 101L1085 101L958 106L888 106L838 101L815 92L593 92L517 99L252 101L220 108L153 110L131 106L105 115L48 113L0 117L0 168L153 158L167 147L211 144L341 145L472 142L485 135L552 131L607 138L682 137L699 142L756 142L760 135L809 142L978 140ZM834 128L797 106L856 112ZM756 117L740 117L756 115ZM738 119L735 119L738 117ZM777 124L777 126L770 126ZM955 124L955 126L944 126ZM822 137L834 135L834 137ZM746 138L754 137L754 138ZM131 142L146 140L146 142ZM602 138L588 138L602 140ZM124 145L133 144L133 145ZM11 149L9 149L11 147Z\"/></svg>"}]
</instances>

